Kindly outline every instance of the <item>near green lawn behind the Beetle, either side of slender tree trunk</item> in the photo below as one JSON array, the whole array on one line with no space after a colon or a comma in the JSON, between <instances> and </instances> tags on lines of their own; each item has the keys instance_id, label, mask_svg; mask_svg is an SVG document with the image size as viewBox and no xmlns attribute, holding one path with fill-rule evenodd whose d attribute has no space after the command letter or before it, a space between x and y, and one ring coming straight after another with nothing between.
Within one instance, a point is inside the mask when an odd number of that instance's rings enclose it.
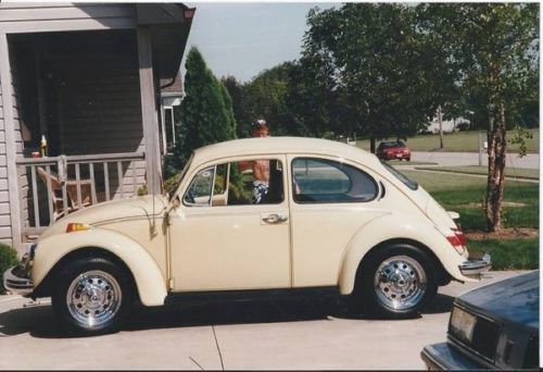
<instances>
[{"instance_id":1,"label":"near green lawn behind the Beetle, either side of slender tree trunk","mask_svg":"<svg viewBox=\"0 0 543 372\"><path fill-rule=\"evenodd\" d=\"M446 210L460 213L464 230L485 230L481 202L487 193L487 179L455 174L403 171L417 181ZM512 207L504 208L505 227L539 227L539 184L516 181L505 182L504 200ZM512 203L517 203L513 206Z\"/></svg>"}]
</instances>

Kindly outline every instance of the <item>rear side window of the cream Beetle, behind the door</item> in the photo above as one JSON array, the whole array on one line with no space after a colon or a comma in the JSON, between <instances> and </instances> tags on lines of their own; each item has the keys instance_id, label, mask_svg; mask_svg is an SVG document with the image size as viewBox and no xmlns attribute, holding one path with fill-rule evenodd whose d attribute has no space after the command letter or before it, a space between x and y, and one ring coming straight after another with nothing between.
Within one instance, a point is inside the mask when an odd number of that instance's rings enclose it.
<instances>
[{"instance_id":1,"label":"rear side window of the cream Beetle, behind the door","mask_svg":"<svg viewBox=\"0 0 543 372\"><path fill-rule=\"evenodd\" d=\"M365 172L337 161L296 158L292 161L295 202L362 202L376 198L378 187Z\"/></svg>"}]
</instances>

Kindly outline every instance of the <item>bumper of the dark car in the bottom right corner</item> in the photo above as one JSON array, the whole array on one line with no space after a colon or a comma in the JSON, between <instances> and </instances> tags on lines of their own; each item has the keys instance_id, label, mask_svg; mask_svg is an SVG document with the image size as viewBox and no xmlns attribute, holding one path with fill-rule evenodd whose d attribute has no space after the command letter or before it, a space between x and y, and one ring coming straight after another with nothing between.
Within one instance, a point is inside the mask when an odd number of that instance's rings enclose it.
<instances>
[{"instance_id":1,"label":"bumper of the dark car in the bottom right corner","mask_svg":"<svg viewBox=\"0 0 543 372\"><path fill-rule=\"evenodd\" d=\"M488 365L479 364L464 354L456 350L447 343L426 346L420 352L420 358L429 370L482 370Z\"/></svg>"}]
</instances>

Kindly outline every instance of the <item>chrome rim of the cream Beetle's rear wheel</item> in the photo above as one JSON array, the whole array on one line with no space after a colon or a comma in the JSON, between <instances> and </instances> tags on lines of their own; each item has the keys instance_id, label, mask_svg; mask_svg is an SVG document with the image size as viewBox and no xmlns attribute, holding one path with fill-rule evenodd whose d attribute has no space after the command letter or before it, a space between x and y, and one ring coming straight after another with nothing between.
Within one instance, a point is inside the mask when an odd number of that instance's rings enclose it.
<instances>
[{"instance_id":1,"label":"chrome rim of the cream Beetle's rear wheel","mask_svg":"<svg viewBox=\"0 0 543 372\"><path fill-rule=\"evenodd\" d=\"M378 300L393 311L416 307L422 300L426 287L422 265L408 256L394 256L382 261L374 277Z\"/></svg>"}]
</instances>

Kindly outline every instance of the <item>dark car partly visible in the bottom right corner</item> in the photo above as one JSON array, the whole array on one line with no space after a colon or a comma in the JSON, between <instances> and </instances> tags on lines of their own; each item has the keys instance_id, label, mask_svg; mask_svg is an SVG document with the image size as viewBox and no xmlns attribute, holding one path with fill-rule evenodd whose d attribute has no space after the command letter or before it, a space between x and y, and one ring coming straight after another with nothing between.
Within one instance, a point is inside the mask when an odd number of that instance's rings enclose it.
<instances>
[{"instance_id":1,"label":"dark car partly visible in the bottom right corner","mask_svg":"<svg viewBox=\"0 0 543 372\"><path fill-rule=\"evenodd\" d=\"M539 369L539 271L517 275L458 297L447 342L426 346L432 370Z\"/></svg>"}]
</instances>

